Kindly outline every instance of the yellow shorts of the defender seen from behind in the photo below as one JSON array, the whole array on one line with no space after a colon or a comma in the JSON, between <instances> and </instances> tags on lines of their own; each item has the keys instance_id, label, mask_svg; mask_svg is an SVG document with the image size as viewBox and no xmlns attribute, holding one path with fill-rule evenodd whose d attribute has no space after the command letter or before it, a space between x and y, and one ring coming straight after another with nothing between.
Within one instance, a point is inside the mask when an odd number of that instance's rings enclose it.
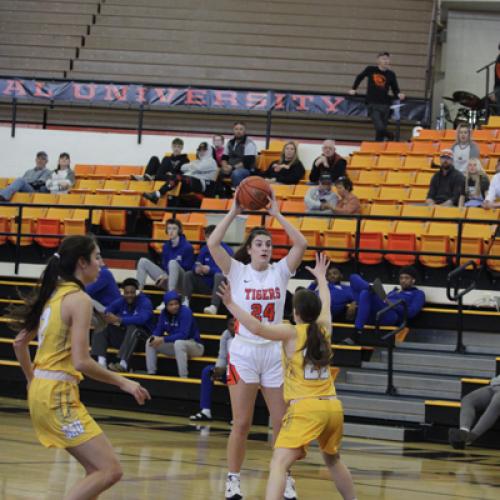
<instances>
[{"instance_id":1,"label":"yellow shorts of the defender seen from behind","mask_svg":"<svg viewBox=\"0 0 500 500\"><path fill-rule=\"evenodd\" d=\"M299 400L288 407L275 448L304 448L318 440L322 451L338 452L344 428L344 410L338 399Z\"/></svg>"}]
</instances>

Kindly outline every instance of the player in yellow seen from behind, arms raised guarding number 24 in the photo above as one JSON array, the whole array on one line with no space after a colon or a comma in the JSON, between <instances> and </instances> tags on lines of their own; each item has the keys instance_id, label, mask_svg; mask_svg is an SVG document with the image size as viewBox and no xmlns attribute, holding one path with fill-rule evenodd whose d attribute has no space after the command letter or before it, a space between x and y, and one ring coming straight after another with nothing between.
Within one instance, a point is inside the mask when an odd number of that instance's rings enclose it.
<instances>
[{"instance_id":1,"label":"player in yellow seen from behind, arms raised guarding number 24","mask_svg":"<svg viewBox=\"0 0 500 500\"><path fill-rule=\"evenodd\" d=\"M328 264L321 254L316 257L314 269L307 267L317 280L319 298L309 290L294 295L296 326L260 323L233 302L228 284L220 287L224 304L242 325L263 338L282 341L284 397L288 409L274 445L266 500L283 498L287 471L296 460L306 456L308 445L315 439L342 497L356 498L351 473L338 453L344 415L330 373L332 318L326 282Z\"/></svg>"}]
</instances>

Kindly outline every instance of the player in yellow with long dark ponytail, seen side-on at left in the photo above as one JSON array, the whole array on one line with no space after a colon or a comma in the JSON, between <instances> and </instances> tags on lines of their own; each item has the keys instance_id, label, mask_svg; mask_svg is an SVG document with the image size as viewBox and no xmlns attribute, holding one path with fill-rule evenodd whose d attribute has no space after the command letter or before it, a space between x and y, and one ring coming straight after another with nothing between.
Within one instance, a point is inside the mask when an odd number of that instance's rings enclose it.
<instances>
[{"instance_id":1,"label":"player in yellow with long dark ponytail, seen side-on at left","mask_svg":"<svg viewBox=\"0 0 500 500\"><path fill-rule=\"evenodd\" d=\"M82 374L118 386L139 404L150 399L138 383L90 357L92 302L84 287L97 279L101 265L92 238L65 238L47 263L36 295L12 313L21 327L14 350L28 380L28 405L38 439L44 446L65 448L86 471L66 495L71 500L96 498L122 477L110 442L80 402ZM37 334L32 364L28 346Z\"/></svg>"}]
</instances>

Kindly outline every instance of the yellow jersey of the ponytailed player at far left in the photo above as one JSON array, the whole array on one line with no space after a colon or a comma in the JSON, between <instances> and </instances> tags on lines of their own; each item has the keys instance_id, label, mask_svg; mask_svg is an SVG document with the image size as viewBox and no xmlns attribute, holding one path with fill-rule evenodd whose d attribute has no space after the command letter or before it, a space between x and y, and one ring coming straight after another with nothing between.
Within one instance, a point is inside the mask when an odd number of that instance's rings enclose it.
<instances>
[{"instance_id":1,"label":"yellow jersey of the ponytailed player at far left","mask_svg":"<svg viewBox=\"0 0 500 500\"><path fill-rule=\"evenodd\" d=\"M78 380L83 378L73 366L69 326L63 323L61 318L63 298L80 290L76 283L62 282L45 304L38 327L38 349L34 368L64 371Z\"/></svg>"}]
</instances>

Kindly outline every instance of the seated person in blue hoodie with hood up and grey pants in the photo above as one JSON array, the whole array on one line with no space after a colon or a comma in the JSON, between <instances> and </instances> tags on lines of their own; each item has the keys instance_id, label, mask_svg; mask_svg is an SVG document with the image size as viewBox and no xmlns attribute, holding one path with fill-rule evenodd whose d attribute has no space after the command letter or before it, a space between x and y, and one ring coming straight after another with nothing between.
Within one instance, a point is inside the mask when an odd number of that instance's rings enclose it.
<instances>
[{"instance_id":1,"label":"seated person in blue hoodie with hood up and grey pants","mask_svg":"<svg viewBox=\"0 0 500 500\"><path fill-rule=\"evenodd\" d=\"M165 308L160 314L153 336L146 343L146 368L148 374L156 373L157 354L175 356L179 377L188 376L188 358L202 356L205 350L201 343L198 325L189 307L181 304L175 291L163 296Z\"/></svg>"}]
</instances>

